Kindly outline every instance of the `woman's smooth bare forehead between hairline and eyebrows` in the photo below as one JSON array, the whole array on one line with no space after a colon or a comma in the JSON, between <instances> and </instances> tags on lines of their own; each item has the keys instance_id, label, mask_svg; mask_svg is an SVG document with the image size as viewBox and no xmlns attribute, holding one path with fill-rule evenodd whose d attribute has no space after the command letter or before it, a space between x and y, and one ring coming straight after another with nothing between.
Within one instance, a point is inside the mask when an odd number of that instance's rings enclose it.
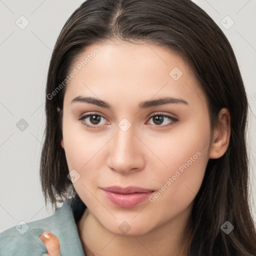
<instances>
[{"instance_id":1,"label":"woman's smooth bare forehead between hairline and eyebrows","mask_svg":"<svg viewBox=\"0 0 256 256\"><path fill-rule=\"evenodd\" d=\"M131 103L157 96L205 101L183 58L154 44L93 44L75 59L70 71L76 74L66 85L64 101L70 102L77 95L109 98L126 105L126 100Z\"/></svg>"}]
</instances>

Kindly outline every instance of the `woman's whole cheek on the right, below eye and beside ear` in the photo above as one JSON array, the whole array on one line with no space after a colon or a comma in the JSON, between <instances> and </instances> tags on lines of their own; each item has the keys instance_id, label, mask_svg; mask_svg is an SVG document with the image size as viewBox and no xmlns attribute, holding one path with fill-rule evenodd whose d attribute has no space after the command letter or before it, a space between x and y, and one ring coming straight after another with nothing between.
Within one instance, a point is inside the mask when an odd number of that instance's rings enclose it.
<instances>
[{"instance_id":1,"label":"woman's whole cheek on the right, below eye and beside ear","mask_svg":"<svg viewBox=\"0 0 256 256\"><path fill-rule=\"evenodd\" d=\"M151 201L155 201L157 207L163 203L185 207L200 188L208 161L210 126L206 120L203 125L200 122L187 124L173 129L158 151L167 167L154 175L159 190Z\"/></svg>"}]
</instances>

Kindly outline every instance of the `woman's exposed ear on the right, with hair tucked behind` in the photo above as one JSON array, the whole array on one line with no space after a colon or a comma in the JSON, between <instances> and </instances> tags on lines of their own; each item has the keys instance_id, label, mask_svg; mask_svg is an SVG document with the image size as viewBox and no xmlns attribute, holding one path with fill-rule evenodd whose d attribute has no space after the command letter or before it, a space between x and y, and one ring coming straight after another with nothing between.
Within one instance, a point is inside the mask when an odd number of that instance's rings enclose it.
<instances>
[{"instance_id":1,"label":"woman's exposed ear on the right, with hair tucked behind","mask_svg":"<svg viewBox=\"0 0 256 256\"><path fill-rule=\"evenodd\" d=\"M230 138L230 114L227 108L222 108L218 114L218 126L213 132L213 138L209 149L209 158L221 157L229 144Z\"/></svg>"}]
</instances>

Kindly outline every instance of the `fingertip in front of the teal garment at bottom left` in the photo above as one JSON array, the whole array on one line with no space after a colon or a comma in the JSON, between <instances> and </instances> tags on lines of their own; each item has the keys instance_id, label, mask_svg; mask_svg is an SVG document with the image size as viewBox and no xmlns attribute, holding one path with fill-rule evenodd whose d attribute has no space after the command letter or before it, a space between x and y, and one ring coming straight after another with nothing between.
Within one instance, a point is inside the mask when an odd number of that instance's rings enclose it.
<instances>
[{"instance_id":1,"label":"fingertip in front of the teal garment at bottom left","mask_svg":"<svg viewBox=\"0 0 256 256\"><path fill-rule=\"evenodd\" d=\"M46 231L40 235L40 239L45 244L49 256L60 256L59 240L53 233Z\"/></svg>"}]
</instances>

